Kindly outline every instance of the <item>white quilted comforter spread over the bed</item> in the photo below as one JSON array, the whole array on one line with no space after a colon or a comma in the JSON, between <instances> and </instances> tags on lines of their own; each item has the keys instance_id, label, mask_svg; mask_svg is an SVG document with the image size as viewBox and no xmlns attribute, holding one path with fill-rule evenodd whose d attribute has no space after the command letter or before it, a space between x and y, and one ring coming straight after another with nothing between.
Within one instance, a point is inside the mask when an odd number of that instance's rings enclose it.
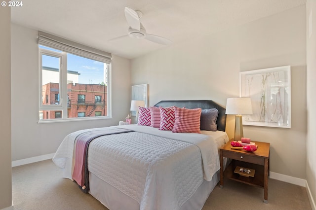
<instances>
[{"instance_id":1,"label":"white quilted comforter spread over the bed","mask_svg":"<svg viewBox=\"0 0 316 210\"><path fill-rule=\"evenodd\" d=\"M203 178L211 180L220 168L218 146L212 136L159 131L148 126L116 127L136 132L93 140L88 170L137 201L141 210L180 209ZM75 139L86 131L74 132L63 140L53 158L57 166L65 168L73 159Z\"/></svg>"}]
</instances>

